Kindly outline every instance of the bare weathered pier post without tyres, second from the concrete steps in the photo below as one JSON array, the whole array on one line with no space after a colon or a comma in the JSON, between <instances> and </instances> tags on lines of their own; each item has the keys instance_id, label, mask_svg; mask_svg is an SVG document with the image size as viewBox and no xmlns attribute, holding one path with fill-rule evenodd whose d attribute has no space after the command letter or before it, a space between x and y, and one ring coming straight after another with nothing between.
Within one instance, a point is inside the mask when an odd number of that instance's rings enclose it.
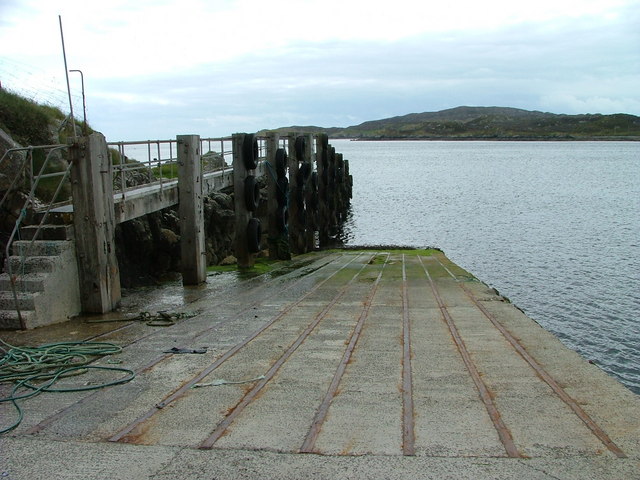
<instances>
[{"instance_id":1,"label":"bare weathered pier post without tyres, second from the concrete steps","mask_svg":"<svg viewBox=\"0 0 640 480\"><path fill-rule=\"evenodd\" d=\"M198 285L207 280L200 137L178 135L177 142L182 283Z\"/></svg>"}]
</instances>

